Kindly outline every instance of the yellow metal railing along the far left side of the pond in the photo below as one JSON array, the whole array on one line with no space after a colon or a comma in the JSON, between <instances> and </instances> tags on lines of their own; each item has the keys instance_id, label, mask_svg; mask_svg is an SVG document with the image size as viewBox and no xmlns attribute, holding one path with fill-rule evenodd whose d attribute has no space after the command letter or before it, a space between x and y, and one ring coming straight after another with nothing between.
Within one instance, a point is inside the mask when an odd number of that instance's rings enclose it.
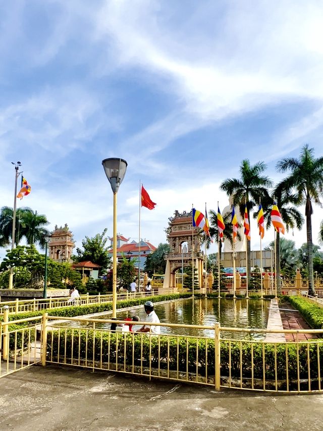
<instances>
[{"instance_id":1,"label":"yellow metal railing along the far left side of the pond","mask_svg":"<svg viewBox=\"0 0 323 431\"><path fill-rule=\"evenodd\" d=\"M175 289L168 289L163 291L163 294L173 294L175 293ZM136 293L128 293L122 292L117 293L117 301L123 301L128 299L135 298L144 298L147 295L146 292L136 292ZM149 296L157 295L156 292L152 290L149 292ZM60 308L67 307L69 305L90 305L90 304L104 304L112 302L112 294L110 295L94 295L90 296L88 294L81 295L79 298L76 298L75 301L71 301L69 297L62 298L47 298L47 299L31 299L31 300L20 300L16 299L15 301L4 301L0 303L0 314L4 313L4 307L9 307L9 312L11 314L18 314L30 311L42 311L42 310L50 310L51 308Z\"/></svg>"}]
</instances>

